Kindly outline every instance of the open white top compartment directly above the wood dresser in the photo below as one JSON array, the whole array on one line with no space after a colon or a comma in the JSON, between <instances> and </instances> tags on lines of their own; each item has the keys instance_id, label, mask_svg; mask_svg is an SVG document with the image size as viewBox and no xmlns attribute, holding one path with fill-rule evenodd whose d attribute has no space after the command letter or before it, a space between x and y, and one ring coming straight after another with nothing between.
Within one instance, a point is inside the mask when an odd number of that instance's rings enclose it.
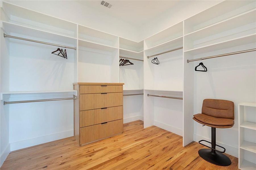
<instances>
[{"instance_id":1,"label":"open white top compartment directly above the wood dresser","mask_svg":"<svg viewBox=\"0 0 256 170\"><path fill-rule=\"evenodd\" d=\"M118 48L118 37L102 31L78 25L78 39Z\"/></svg>"}]
</instances>

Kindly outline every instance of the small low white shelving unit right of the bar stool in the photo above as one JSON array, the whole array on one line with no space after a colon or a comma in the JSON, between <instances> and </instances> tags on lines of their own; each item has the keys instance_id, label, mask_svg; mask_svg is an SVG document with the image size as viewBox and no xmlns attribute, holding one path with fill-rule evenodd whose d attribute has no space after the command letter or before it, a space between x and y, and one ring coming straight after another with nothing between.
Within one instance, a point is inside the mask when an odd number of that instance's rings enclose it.
<instances>
[{"instance_id":1,"label":"small low white shelving unit right of the bar stool","mask_svg":"<svg viewBox=\"0 0 256 170\"><path fill-rule=\"evenodd\" d=\"M253 170L256 169L256 103L239 103L238 115L238 168Z\"/></svg>"}]
</instances>

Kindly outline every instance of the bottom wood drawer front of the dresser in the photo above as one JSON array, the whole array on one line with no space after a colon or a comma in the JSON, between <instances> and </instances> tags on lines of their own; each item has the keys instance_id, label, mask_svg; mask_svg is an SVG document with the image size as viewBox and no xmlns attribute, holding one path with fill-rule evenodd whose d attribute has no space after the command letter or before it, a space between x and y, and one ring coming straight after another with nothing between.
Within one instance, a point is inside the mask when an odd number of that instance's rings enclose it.
<instances>
[{"instance_id":1,"label":"bottom wood drawer front of the dresser","mask_svg":"<svg viewBox=\"0 0 256 170\"><path fill-rule=\"evenodd\" d=\"M80 144L105 138L123 131L123 120L115 120L105 124L97 124L80 128Z\"/></svg>"}]
</instances>

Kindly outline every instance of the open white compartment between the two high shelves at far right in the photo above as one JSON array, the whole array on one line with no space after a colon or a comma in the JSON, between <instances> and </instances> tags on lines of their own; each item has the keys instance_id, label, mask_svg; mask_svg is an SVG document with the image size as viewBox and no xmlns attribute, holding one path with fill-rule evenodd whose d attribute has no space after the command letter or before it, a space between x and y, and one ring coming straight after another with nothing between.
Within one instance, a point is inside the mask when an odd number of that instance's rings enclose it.
<instances>
[{"instance_id":1,"label":"open white compartment between the two high shelves at far right","mask_svg":"<svg viewBox=\"0 0 256 170\"><path fill-rule=\"evenodd\" d=\"M184 50L256 33L256 9L228 18L184 36Z\"/></svg>"}]
</instances>

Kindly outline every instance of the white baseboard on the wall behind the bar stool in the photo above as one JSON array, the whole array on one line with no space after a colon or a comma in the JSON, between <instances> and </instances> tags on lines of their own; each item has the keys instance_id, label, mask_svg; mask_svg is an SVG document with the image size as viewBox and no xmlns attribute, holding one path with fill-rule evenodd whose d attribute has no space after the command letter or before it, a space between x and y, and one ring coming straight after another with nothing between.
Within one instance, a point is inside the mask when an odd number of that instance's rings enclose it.
<instances>
[{"instance_id":1,"label":"white baseboard on the wall behind the bar stool","mask_svg":"<svg viewBox=\"0 0 256 170\"><path fill-rule=\"evenodd\" d=\"M198 142L200 140L206 140L206 141L210 141L211 142L211 139L208 139L206 137L194 134L194 141ZM225 153L227 153L229 155L232 155L232 156L235 156L235 157L238 158L238 148L236 148L234 146L230 146L230 145L224 144L224 143L220 143L218 141L216 141L216 144L226 148L226 152ZM217 148L218 148L218 146L217 146Z\"/></svg>"}]
</instances>

